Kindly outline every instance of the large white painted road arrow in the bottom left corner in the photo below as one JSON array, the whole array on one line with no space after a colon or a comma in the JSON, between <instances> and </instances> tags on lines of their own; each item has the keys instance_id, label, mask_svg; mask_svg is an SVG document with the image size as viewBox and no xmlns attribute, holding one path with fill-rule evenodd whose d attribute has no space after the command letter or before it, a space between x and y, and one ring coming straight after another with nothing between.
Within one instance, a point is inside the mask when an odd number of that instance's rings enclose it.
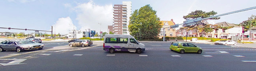
<instances>
[{"instance_id":1,"label":"large white painted road arrow in the bottom left corner","mask_svg":"<svg viewBox=\"0 0 256 71\"><path fill-rule=\"evenodd\" d=\"M27 59L0 59L0 60L13 60L12 62L9 62L9 63L0 63L0 65L5 66L5 65L18 65Z\"/></svg>"}]
</instances>

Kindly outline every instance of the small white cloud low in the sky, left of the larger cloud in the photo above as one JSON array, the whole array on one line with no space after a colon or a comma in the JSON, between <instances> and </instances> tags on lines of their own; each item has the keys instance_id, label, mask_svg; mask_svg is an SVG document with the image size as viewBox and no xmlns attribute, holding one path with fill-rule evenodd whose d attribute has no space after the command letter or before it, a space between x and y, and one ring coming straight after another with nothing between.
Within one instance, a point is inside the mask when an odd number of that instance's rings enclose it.
<instances>
[{"instance_id":1,"label":"small white cloud low in the sky, left of the larger cloud","mask_svg":"<svg viewBox=\"0 0 256 71\"><path fill-rule=\"evenodd\" d=\"M56 34L58 34L58 33L68 34L69 31L74 29L74 27L75 27L75 29L77 29L77 27L73 25L73 22L70 19L70 17L59 18L58 21L56 21L56 23L53 24L52 26L53 26L53 29L52 29L53 34L54 34L54 32L56 32Z\"/></svg>"}]
</instances>

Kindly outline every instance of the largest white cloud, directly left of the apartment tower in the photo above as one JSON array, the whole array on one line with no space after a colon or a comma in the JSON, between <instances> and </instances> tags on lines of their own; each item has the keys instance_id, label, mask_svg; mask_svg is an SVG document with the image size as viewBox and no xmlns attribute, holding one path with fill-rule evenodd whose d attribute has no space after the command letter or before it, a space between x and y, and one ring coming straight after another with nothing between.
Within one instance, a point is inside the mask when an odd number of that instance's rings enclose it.
<instances>
[{"instance_id":1,"label":"largest white cloud, directly left of the apartment tower","mask_svg":"<svg viewBox=\"0 0 256 71\"><path fill-rule=\"evenodd\" d=\"M69 6L68 4L65 6ZM70 7L70 6L69 6ZM107 26L113 24L113 9L112 5L99 6L92 1L88 3L77 4L71 8L77 13L79 26L82 29L96 30L107 32ZM100 24L101 23L101 27Z\"/></svg>"}]
</instances>

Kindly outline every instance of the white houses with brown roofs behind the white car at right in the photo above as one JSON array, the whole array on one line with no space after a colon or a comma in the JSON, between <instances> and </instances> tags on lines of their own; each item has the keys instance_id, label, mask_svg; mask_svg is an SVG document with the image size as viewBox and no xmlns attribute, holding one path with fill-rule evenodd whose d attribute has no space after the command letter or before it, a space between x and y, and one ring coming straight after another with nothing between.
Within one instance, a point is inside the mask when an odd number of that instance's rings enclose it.
<instances>
[{"instance_id":1,"label":"white houses with brown roofs behind the white car at right","mask_svg":"<svg viewBox=\"0 0 256 71\"><path fill-rule=\"evenodd\" d=\"M215 25L221 26L221 27L229 27L234 26L233 28L229 28L227 30L224 29L215 29L213 32L207 33L206 37L211 38L231 38L232 36L241 36L243 33L243 27L237 26L235 24L231 24L228 22L219 22Z\"/></svg>"}]
</instances>

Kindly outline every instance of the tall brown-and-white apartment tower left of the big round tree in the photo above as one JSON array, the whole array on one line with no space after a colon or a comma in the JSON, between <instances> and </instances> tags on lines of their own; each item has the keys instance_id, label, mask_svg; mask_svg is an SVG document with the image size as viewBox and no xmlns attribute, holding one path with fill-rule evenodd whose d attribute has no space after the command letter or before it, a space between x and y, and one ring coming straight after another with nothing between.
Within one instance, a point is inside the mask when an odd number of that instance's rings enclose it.
<instances>
[{"instance_id":1,"label":"tall brown-and-white apartment tower left of the big round tree","mask_svg":"<svg viewBox=\"0 0 256 71\"><path fill-rule=\"evenodd\" d=\"M128 25L130 21L129 17L131 17L132 12L131 5L131 2L123 2L123 4L114 5L114 24L112 27L108 26L108 32L129 35Z\"/></svg>"}]
</instances>

